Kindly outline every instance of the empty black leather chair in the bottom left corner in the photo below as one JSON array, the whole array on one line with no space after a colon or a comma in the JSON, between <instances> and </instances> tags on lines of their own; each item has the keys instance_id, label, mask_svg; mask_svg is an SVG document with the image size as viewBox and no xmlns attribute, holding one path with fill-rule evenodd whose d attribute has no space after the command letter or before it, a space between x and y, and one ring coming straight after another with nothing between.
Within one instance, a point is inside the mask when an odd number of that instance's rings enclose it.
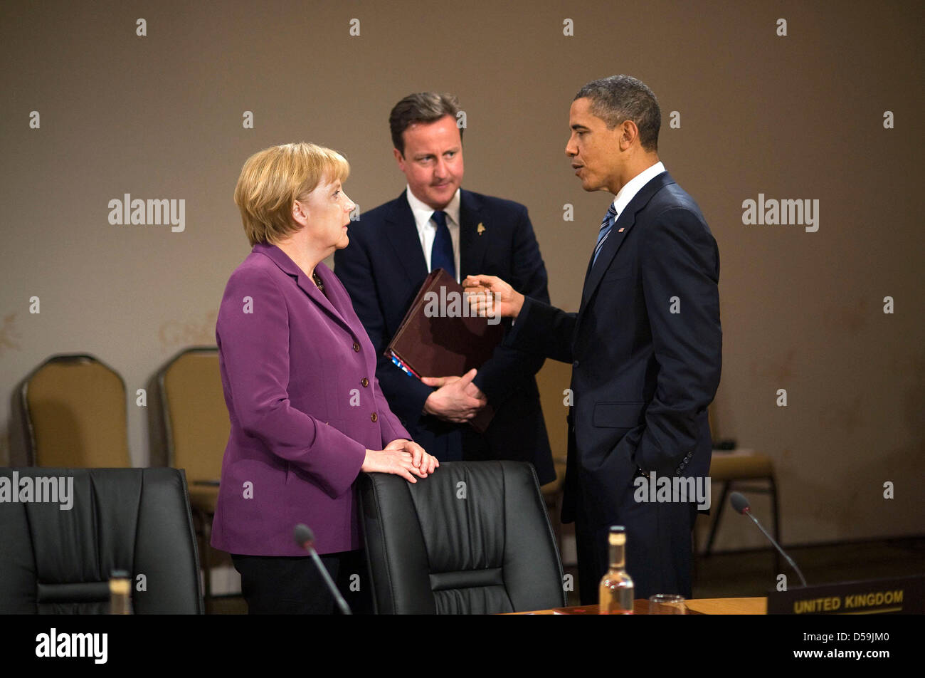
<instances>
[{"instance_id":1,"label":"empty black leather chair in the bottom left corner","mask_svg":"<svg viewBox=\"0 0 925 678\"><path fill-rule=\"evenodd\" d=\"M0 469L0 493L59 477L73 482L68 510L37 492L0 502L0 614L106 613L114 570L129 572L136 614L203 613L183 471Z\"/></svg>"}]
</instances>

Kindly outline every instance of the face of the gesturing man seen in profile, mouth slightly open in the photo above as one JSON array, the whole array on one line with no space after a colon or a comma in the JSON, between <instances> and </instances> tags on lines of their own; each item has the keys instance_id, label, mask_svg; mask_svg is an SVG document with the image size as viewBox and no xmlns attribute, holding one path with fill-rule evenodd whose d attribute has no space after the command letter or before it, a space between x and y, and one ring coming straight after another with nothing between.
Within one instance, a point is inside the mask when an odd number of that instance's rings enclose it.
<instances>
[{"instance_id":1,"label":"face of the gesturing man seen in profile, mouth slightly open","mask_svg":"<svg viewBox=\"0 0 925 678\"><path fill-rule=\"evenodd\" d=\"M565 145L565 155L572 158L572 167L582 188L616 194L620 190L623 169L621 126L608 130L607 123L591 112L591 100L582 97L572 102L569 127L572 135Z\"/></svg>"}]
</instances>

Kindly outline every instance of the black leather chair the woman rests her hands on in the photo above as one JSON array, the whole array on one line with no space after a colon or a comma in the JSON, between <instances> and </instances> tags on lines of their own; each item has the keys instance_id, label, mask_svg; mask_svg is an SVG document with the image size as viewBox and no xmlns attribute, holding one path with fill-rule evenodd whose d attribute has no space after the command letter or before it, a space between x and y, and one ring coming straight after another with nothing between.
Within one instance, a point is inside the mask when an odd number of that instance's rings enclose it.
<instances>
[{"instance_id":1,"label":"black leather chair the woman rests her hands on","mask_svg":"<svg viewBox=\"0 0 925 678\"><path fill-rule=\"evenodd\" d=\"M491 614L565 605L559 550L533 467L457 461L408 483L361 476L379 614Z\"/></svg>"}]
</instances>

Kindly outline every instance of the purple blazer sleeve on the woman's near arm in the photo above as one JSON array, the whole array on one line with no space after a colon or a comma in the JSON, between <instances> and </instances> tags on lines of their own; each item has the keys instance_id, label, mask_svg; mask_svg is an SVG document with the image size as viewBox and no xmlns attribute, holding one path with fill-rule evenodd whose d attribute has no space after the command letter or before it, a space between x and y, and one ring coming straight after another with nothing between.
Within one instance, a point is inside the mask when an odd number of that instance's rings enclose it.
<instances>
[{"instance_id":1,"label":"purple blazer sleeve on the woman's near arm","mask_svg":"<svg viewBox=\"0 0 925 678\"><path fill-rule=\"evenodd\" d=\"M253 300L253 312L245 312L245 297ZM232 274L218 310L216 341L244 433L311 474L329 496L347 492L363 466L365 447L292 407L289 307L265 271Z\"/></svg>"}]
</instances>

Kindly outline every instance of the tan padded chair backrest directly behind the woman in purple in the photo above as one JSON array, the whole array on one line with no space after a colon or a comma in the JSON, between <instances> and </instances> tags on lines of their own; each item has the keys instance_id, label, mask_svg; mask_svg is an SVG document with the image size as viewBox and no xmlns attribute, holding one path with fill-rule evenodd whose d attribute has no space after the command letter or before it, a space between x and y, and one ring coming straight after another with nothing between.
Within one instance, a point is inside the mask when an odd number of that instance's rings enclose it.
<instances>
[{"instance_id":1,"label":"tan padded chair backrest directly behind the woman in purple","mask_svg":"<svg viewBox=\"0 0 925 678\"><path fill-rule=\"evenodd\" d=\"M167 464L187 480L217 481L231 424L218 370L217 347L180 351L158 373Z\"/></svg>"}]
</instances>

